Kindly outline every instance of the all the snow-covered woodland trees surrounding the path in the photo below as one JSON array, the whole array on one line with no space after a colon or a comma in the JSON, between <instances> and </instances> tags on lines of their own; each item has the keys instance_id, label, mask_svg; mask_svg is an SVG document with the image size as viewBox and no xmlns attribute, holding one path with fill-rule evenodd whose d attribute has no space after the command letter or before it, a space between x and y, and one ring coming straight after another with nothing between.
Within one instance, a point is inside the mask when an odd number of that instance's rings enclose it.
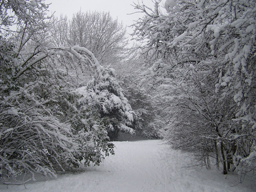
<instances>
[{"instance_id":1,"label":"all the snow-covered woodland trees surrounding the path","mask_svg":"<svg viewBox=\"0 0 256 192\"><path fill-rule=\"evenodd\" d=\"M1 181L100 165L122 132L256 176L256 1L153 2L127 34L109 13L0 0Z\"/></svg>"}]
</instances>

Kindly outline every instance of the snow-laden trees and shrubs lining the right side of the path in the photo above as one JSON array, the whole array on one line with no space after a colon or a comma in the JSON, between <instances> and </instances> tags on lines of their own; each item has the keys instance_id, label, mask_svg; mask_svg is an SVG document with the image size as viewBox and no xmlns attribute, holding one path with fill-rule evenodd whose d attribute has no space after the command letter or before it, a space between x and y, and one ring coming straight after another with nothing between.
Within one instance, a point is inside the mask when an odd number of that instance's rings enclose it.
<instances>
[{"instance_id":1,"label":"snow-laden trees and shrubs lining the right side of the path","mask_svg":"<svg viewBox=\"0 0 256 192\"><path fill-rule=\"evenodd\" d=\"M167 14L136 5L135 23L153 65L143 82L169 112L177 148L211 153L223 173L255 171L255 1L167 0Z\"/></svg>"}]
</instances>

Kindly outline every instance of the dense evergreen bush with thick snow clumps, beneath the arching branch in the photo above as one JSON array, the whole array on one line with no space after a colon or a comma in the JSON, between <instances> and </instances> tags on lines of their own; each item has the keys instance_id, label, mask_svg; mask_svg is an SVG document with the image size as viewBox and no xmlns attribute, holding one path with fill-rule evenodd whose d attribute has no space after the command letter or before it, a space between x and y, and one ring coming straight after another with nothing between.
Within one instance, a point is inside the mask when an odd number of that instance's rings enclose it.
<instances>
[{"instance_id":1,"label":"dense evergreen bush with thick snow clumps, beneath the arching branch","mask_svg":"<svg viewBox=\"0 0 256 192\"><path fill-rule=\"evenodd\" d=\"M101 69L102 68L102 69ZM87 86L80 87L77 92L83 95L87 105L100 114L100 119L107 127L111 140L117 139L119 130L134 133L132 126L134 112L124 97L122 89L114 79L113 69L98 68L96 75Z\"/></svg>"}]
</instances>

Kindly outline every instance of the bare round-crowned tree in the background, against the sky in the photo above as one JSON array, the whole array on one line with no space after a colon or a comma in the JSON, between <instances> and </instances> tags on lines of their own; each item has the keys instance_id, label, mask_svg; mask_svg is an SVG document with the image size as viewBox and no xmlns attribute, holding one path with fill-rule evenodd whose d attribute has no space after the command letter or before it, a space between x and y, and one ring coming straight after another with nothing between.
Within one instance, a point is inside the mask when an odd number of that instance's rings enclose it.
<instances>
[{"instance_id":1,"label":"bare round-crowned tree in the background, against the sky","mask_svg":"<svg viewBox=\"0 0 256 192\"><path fill-rule=\"evenodd\" d=\"M55 18L54 39L62 46L87 47L102 65L115 65L127 57L126 29L109 13L75 13L71 20Z\"/></svg>"}]
</instances>

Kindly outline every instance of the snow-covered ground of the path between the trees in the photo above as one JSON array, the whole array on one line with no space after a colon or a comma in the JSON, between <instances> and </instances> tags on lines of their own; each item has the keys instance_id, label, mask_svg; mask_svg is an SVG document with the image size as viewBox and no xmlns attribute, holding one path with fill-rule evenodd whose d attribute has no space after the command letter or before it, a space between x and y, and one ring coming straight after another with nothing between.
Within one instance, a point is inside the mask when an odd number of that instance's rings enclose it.
<instances>
[{"instance_id":1,"label":"snow-covered ground of the path between the trees","mask_svg":"<svg viewBox=\"0 0 256 192\"><path fill-rule=\"evenodd\" d=\"M252 192L235 175L192 165L189 153L160 140L114 142L115 155L83 173L23 185L0 185L0 192ZM186 166L186 167L185 167ZM234 186L236 185L236 186Z\"/></svg>"}]
</instances>

